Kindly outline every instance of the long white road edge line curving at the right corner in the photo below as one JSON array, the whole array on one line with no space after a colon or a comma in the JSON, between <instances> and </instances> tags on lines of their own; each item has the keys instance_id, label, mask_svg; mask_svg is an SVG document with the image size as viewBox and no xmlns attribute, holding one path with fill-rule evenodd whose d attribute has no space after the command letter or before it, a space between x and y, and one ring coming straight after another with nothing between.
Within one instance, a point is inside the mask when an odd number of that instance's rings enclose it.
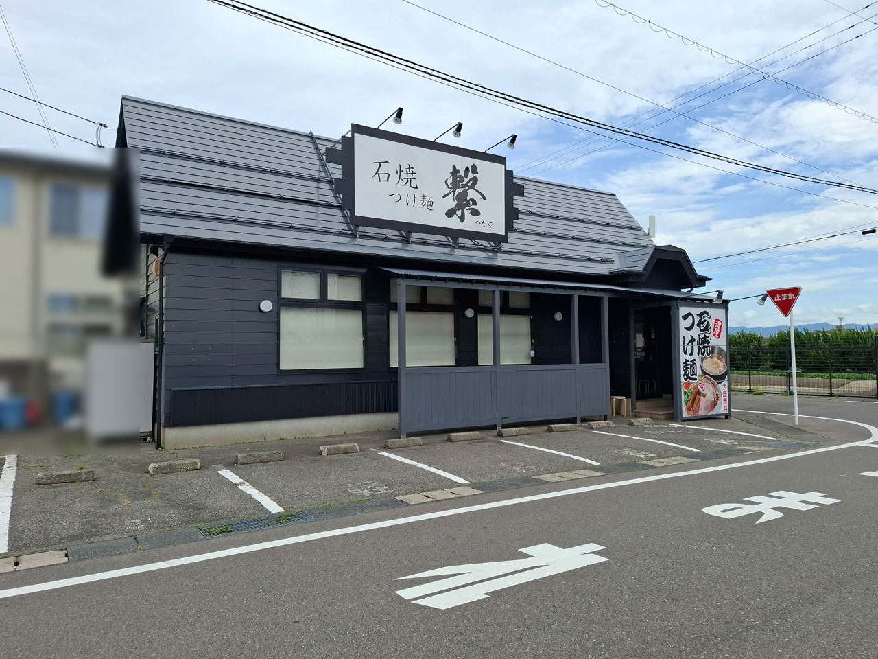
<instances>
[{"instance_id":1,"label":"long white road edge line curving at the right corner","mask_svg":"<svg viewBox=\"0 0 878 659\"><path fill-rule=\"evenodd\" d=\"M748 411L748 410L742 410ZM765 414L765 412L760 412ZM792 416L792 415L786 415ZM826 418L825 416L802 416L802 418ZM299 545L304 542L313 540L323 540L325 538L337 538L343 535L352 535L354 533L362 533L366 531L374 531L376 529L384 529L389 526L401 526L406 524L414 524L415 522L423 522L428 519L454 517L456 515L464 515L470 512L488 511L493 508L504 508L518 503L530 503L533 501L542 501L544 499L554 499L560 496L571 496L582 494L583 492L594 492L601 489L622 488L626 485L637 485L644 482L666 481L671 478L686 478L699 474L709 474L715 471L725 471L727 469L738 469L740 467L751 467L752 465L763 465L768 462L778 462L780 460L796 460L806 455L816 455L817 453L827 453L829 451L838 451L851 446L869 445L870 442L878 440L878 428L872 425L860 424L856 421L847 421L846 419L829 419L830 421L838 421L842 424L854 424L867 428L870 437L859 442L849 442L848 444L839 444L836 446L821 446L820 448L812 448L807 451L798 453L787 453L786 455L774 455L771 458L760 458L758 460L747 460L745 462L735 462L730 465L716 465L714 467L702 467L699 469L689 469L688 471L667 472L663 474L655 474L644 476L642 478L632 478L630 481L617 481L598 483L596 485L586 485L581 488L562 489L558 492L543 492L543 494L520 496L517 499L506 499L504 501L495 501L492 503L479 503L478 505L465 506L464 508L452 508L448 511L427 512L421 515L412 515L407 518L385 519L382 522L371 522L369 524L361 524L356 526L346 526L341 529L333 529L331 531L321 531L317 533L308 533L292 538L281 538L280 540L270 540L268 542L259 542L255 545L244 545L243 547L231 547L229 549L220 549L215 552L206 554L195 554L193 556L184 556L183 558L171 559L170 561L157 561L155 563L145 563L144 565L135 565L130 568L120 568L107 570L106 572L95 572L90 575L71 576L67 579L57 579L55 581L47 581L43 583L32 583L27 586L18 586L18 588L8 588L0 590L0 599L7 597L18 597L19 595L28 595L34 592L42 592L44 590L57 590L59 588L68 588L68 586L76 586L81 583L94 583L105 581L107 579L116 579L119 576L140 575L145 572L155 572L155 570L165 568L176 568L181 565L191 565L192 563L200 563L204 561L214 561L227 556L237 556L239 554L250 554L259 552L263 549L274 549L277 547L289 547L291 545ZM394 458L397 456L393 456Z\"/></svg>"}]
</instances>

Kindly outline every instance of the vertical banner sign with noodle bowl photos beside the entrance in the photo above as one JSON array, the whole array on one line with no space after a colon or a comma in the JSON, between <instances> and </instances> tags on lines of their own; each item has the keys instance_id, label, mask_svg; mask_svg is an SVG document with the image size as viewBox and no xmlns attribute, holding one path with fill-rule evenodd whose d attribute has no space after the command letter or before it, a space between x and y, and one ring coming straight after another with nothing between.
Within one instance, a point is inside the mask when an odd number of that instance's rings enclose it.
<instances>
[{"instance_id":1,"label":"vertical banner sign with noodle bowl photos beside the entrance","mask_svg":"<svg viewBox=\"0 0 878 659\"><path fill-rule=\"evenodd\" d=\"M729 404L729 333L726 311L680 305L682 418L724 416Z\"/></svg>"}]
</instances>

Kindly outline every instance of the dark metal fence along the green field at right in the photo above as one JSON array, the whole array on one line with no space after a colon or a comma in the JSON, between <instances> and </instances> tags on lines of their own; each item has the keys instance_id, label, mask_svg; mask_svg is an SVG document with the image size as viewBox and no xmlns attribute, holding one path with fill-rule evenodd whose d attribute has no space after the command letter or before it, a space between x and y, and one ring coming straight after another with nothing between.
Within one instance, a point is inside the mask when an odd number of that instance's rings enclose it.
<instances>
[{"instance_id":1,"label":"dark metal fence along the green field at right","mask_svg":"<svg viewBox=\"0 0 878 659\"><path fill-rule=\"evenodd\" d=\"M792 394L789 347L730 349L732 389ZM795 350L797 387L802 395L878 398L878 340L874 345L824 346Z\"/></svg>"}]
</instances>

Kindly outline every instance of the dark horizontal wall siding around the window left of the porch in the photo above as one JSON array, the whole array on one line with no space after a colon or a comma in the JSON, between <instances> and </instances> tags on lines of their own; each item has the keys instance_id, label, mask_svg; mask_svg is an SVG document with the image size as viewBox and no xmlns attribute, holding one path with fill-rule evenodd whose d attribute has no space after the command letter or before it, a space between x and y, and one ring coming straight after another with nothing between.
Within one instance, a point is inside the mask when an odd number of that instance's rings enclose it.
<instances>
[{"instance_id":1,"label":"dark horizontal wall siding around the window left of the porch","mask_svg":"<svg viewBox=\"0 0 878 659\"><path fill-rule=\"evenodd\" d=\"M363 282L368 337L363 371L282 373L278 371L277 354L277 280L278 268L283 265L296 267L300 264L172 248L166 264L165 425L188 424L193 419L199 419L198 423L212 424L227 423L229 419L248 421L291 415L320 416L314 411L326 408L320 403L315 404L311 411L303 408L293 414L291 406L282 402L275 405L272 416L264 405L259 406L258 411L248 413L240 404L231 404L231 409L238 415L234 416L212 406L213 400L228 402L228 395L198 395L182 391L193 388L230 387L237 394L229 395L247 398L255 395L254 390L268 392L271 387L282 386L288 395L307 398L312 395L307 392L318 391L314 387L337 383L347 387L342 388L348 393L330 396L335 400L333 409L341 410L333 414L354 413L362 408L357 401L365 401L363 404L367 408L372 404L374 409L364 411L395 409L395 388L393 395L388 397L384 385L375 384L376 381L396 381L395 371L391 372L388 367L387 355L389 278L384 273L370 271ZM271 301L274 309L268 313L259 311L258 303L263 300ZM291 386L304 388L291 389ZM275 400L272 396L277 396L277 393L274 389L271 392L266 396ZM349 399L348 407L345 407L344 396ZM203 404L205 409L192 410L193 404Z\"/></svg>"}]
</instances>

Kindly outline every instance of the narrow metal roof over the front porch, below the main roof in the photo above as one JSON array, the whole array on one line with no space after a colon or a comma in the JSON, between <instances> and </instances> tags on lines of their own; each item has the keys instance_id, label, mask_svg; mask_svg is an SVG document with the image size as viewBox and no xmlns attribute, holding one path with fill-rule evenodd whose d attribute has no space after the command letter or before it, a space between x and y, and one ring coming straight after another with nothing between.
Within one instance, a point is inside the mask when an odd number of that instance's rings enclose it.
<instances>
[{"instance_id":1,"label":"narrow metal roof over the front porch, below the main roof","mask_svg":"<svg viewBox=\"0 0 878 659\"><path fill-rule=\"evenodd\" d=\"M469 282L480 286L500 286L503 289L534 290L546 292L554 289L556 293L572 291L599 291L601 293L643 293L654 297L673 298L674 300L693 300L700 302L716 302L716 298L697 293L681 293L680 291L662 290L657 288L630 288L628 286L609 286L605 284L586 284L581 281L552 281L549 279L521 279L515 277L489 277L486 275L460 274L458 272L428 272L408 270L406 268L381 268L402 279L425 281Z\"/></svg>"}]
</instances>

